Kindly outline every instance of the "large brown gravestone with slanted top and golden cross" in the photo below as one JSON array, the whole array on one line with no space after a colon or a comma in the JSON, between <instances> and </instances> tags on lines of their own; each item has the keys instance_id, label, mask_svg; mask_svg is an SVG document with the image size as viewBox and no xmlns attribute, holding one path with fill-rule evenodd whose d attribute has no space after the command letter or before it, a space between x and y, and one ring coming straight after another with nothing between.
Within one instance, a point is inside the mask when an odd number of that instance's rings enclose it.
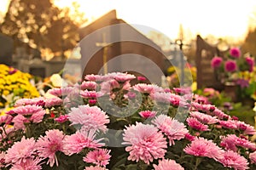
<instances>
[{"instance_id":1,"label":"large brown gravestone with slanted top and golden cross","mask_svg":"<svg viewBox=\"0 0 256 170\"><path fill-rule=\"evenodd\" d=\"M83 77L130 71L160 85L160 75L164 72L160 47L124 20L117 19L115 10L82 28L79 35Z\"/></svg>"}]
</instances>

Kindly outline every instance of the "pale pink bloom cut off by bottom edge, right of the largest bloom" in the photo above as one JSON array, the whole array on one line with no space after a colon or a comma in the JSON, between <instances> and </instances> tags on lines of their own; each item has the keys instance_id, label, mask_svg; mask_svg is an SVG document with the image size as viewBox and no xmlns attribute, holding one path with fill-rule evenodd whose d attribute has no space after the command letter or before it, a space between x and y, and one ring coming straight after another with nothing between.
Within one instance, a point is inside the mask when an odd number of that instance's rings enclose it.
<instances>
[{"instance_id":1,"label":"pale pink bloom cut off by bottom edge, right of the largest bloom","mask_svg":"<svg viewBox=\"0 0 256 170\"><path fill-rule=\"evenodd\" d=\"M153 165L155 170L184 170L184 168L176 161L171 159L163 159L158 161L158 165Z\"/></svg>"}]
</instances>

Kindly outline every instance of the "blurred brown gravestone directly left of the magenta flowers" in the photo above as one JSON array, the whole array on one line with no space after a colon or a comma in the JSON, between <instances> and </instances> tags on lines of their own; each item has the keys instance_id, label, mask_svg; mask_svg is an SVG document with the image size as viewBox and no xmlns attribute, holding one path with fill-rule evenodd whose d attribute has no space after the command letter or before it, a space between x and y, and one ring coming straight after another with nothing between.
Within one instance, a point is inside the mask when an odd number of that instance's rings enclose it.
<instances>
[{"instance_id":1,"label":"blurred brown gravestone directly left of the magenta flowers","mask_svg":"<svg viewBox=\"0 0 256 170\"><path fill-rule=\"evenodd\" d=\"M216 55L223 56L224 52L220 51L218 47L210 45L198 35L195 59L197 88L215 88L217 90L224 88L211 66L211 60Z\"/></svg>"}]
</instances>

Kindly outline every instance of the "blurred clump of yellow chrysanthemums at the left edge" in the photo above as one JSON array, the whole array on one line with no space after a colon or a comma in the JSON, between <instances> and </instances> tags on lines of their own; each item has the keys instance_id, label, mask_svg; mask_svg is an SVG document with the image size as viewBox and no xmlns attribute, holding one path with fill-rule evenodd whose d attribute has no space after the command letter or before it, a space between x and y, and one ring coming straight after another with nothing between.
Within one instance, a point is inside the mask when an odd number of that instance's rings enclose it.
<instances>
[{"instance_id":1,"label":"blurred clump of yellow chrysanthemums at the left edge","mask_svg":"<svg viewBox=\"0 0 256 170\"><path fill-rule=\"evenodd\" d=\"M15 100L39 96L33 77L8 65L0 65L0 109L12 107Z\"/></svg>"}]
</instances>

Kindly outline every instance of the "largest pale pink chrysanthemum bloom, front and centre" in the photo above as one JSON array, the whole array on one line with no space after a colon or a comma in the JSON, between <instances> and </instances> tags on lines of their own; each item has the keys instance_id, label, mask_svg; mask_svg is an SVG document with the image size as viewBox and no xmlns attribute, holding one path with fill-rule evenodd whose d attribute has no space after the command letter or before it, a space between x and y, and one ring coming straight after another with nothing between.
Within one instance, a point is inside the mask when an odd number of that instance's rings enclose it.
<instances>
[{"instance_id":1,"label":"largest pale pink chrysanthemum bloom, front and centre","mask_svg":"<svg viewBox=\"0 0 256 170\"><path fill-rule=\"evenodd\" d=\"M126 127L124 131L125 142L122 144L129 145L125 148L130 152L128 160L142 160L149 164L149 161L165 156L166 139L153 125L137 122L136 125Z\"/></svg>"}]
</instances>

